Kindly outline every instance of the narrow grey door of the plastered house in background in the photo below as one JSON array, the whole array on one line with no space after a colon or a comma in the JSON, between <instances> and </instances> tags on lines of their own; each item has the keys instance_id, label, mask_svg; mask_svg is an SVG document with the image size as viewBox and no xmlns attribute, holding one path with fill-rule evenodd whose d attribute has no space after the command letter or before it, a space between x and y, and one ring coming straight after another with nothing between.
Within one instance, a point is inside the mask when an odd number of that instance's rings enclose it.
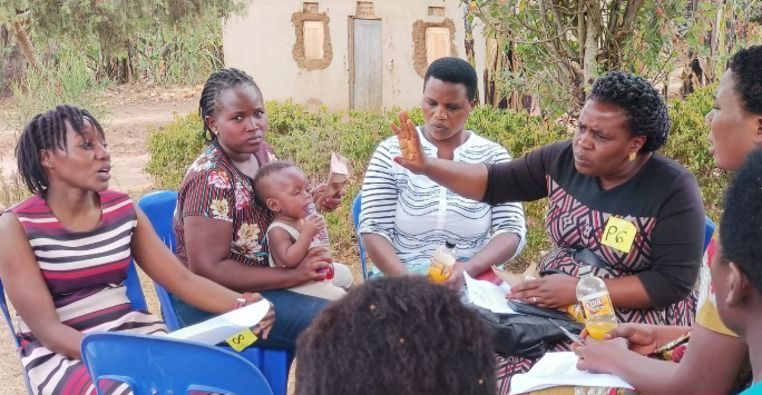
<instances>
[{"instance_id":1,"label":"narrow grey door of the plastered house in background","mask_svg":"<svg viewBox=\"0 0 762 395\"><path fill-rule=\"evenodd\" d=\"M379 109L382 106L381 20L352 19L352 98L356 110Z\"/></svg>"}]
</instances>

